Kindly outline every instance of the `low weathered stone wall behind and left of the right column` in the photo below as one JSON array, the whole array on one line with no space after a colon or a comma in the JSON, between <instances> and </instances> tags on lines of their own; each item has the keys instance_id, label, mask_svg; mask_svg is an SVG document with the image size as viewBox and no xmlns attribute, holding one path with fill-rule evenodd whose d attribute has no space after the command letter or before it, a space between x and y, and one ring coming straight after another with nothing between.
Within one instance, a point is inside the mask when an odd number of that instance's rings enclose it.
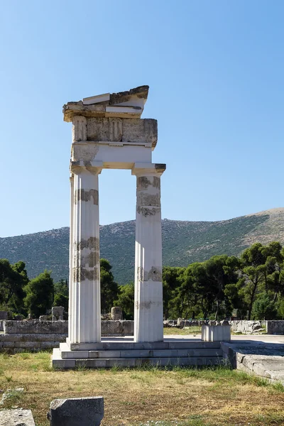
<instances>
[{"instance_id":1,"label":"low weathered stone wall behind and left of the right column","mask_svg":"<svg viewBox=\"0 0 284 426\"><path fill-rule=\"evenodd\" d=\"M58 348L68 335L67 321L3 321L0 351L41 351ZM102 321L102 336L132 336L133 321Z\"/></svg>"}]
</instances>

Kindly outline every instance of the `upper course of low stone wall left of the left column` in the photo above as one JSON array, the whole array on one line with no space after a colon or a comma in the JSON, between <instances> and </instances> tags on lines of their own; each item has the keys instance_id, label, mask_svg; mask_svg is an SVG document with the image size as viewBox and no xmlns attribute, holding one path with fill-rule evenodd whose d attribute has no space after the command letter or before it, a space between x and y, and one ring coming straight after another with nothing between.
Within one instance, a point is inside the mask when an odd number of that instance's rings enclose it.
<instances>
[{"instance_id":1,"label":"upper course of low stone wall left of the left column","mask_svg":"<svg viewBox=\"0 0 284 426\"><path fill-rule=\"evenodd\" d=\"M68 322L67 321L5 321L4 322L5 334L67 334Z\"/></svg>"}]
</instances>

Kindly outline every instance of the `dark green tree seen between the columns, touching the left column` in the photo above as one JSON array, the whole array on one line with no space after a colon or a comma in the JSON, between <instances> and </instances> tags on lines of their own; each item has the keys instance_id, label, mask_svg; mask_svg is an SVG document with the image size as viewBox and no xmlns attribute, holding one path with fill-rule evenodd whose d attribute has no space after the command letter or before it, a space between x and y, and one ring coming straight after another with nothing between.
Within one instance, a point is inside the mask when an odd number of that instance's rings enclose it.
<instances>
[{"instance_id":1,"label":"dark green tree seen between the columns, touching the left column","mask_svg":"<svg viewBox=\"0 0 284 426\"><path fill-rule=\"evenodd\" d=\"M103 313L110 312L114 306L114 300L119 295L119 285L114 281L111 272L111 264L107 259L101 259L101 310Z\"/></svg>"}]
</instances>

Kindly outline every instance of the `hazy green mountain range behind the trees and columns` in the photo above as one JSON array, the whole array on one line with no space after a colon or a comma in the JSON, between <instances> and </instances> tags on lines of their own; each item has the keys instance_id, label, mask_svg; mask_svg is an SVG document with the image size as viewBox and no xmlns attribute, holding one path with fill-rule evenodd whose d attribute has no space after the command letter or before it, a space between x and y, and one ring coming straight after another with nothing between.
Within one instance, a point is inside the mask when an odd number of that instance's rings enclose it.
<instances>
[{"instance_id":1,"label":"hazy green mountain range behind the trees and columns","mask_svg":"<svg viewBox=\"0 0 284 426\"><path fill-rule=\"evenodd\" d=\"M163 264L187 266L217 254L239 255L255 242L284 244L284 208L270 209L219 222L163 219ZM129 283L134 275L135 221L100 226L101 257L114 278ZM0 238L0 258L24 261L29 278L45 269L54 280L68 278L69 228Z\"/></svg>"}]
</instances>

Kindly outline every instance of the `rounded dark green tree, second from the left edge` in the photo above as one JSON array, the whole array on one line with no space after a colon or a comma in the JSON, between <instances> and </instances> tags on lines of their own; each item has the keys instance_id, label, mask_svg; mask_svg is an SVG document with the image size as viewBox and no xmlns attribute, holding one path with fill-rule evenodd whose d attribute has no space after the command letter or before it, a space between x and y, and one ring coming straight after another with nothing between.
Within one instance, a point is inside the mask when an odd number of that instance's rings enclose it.
<instances>
[{"instance_id":1,"label":"rounded dark green tree, second from the left edge","mask_svg":"<svg viewBox=\"0 0 284 426\"><path fill-rule=\"evenodd\" d=\"M36 318L45 315L46 310L53 305L54 286L50 272L40 273L26 285L24 290L26 291L24 303L28 312Z\"/></svg>"}]
</instances>

